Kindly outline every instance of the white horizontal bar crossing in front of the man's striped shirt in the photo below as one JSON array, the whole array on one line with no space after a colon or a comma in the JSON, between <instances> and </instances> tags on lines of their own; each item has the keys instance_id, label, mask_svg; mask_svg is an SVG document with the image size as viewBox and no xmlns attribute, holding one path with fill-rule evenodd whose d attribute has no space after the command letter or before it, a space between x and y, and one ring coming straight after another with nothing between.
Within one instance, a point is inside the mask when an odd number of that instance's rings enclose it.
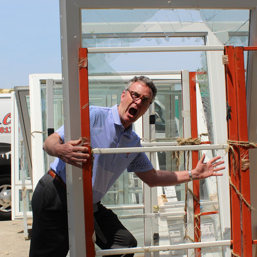
<instances>
[{"instance_id":1,"label":"white horizontal bar crossing in front of the man's striped shirt","mask_svg":"<svg viewBox=\"0 0 257 257\"><path fill-rule=\"evenodd\" d=\"M113 153L144 153L144 152L172 152L172 151L198 151L227 149L227 144L199 144L199 145L174 145L174 146L152 146L135 148L95 148L93 154Z\"/></svg>"}]
</instances>

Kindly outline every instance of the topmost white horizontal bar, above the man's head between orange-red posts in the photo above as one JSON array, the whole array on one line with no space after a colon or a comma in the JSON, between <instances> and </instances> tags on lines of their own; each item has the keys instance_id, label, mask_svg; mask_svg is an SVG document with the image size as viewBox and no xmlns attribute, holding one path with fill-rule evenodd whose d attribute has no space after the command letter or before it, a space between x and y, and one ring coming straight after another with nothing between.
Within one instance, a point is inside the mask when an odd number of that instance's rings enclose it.
<instances>
[{"instance_id":1,"label":"topmost white horizontal bar, above the man's head between orange-red posts","mask_svg":"<svg viewBox=\"0 0 257 257\"><path fill-rule=\"evenodd\" d=\"M131 47L89 47L88 53L114 52L183 52L183 51L223 51L224 46L131 46Z\"/></svg>"}]
</instances>

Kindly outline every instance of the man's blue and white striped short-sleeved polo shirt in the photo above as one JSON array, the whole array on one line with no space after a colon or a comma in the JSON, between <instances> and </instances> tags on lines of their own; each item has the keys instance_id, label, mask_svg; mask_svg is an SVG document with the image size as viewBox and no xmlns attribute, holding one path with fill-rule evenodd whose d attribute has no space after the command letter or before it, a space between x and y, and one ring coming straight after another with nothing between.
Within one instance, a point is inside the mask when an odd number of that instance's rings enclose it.
<instances>
[{"instance_id":1,"label":"man's blue and white striped short-sleeved polo shirt","mask_svg":"<svg viewBox=\"0 0 257 257\"><path fill-rule=\"evenodd\" d=\"M91 148L142 147L139 136L132 125L124 130L118 113L118 105L113 107L89 107ZM56 131L64 142L64 126ZM65 162L56 158L51 168L66 183ZM127 169L127 172L145 172L153 169L145 153L94 154L93 202L97 203L114 182Z\"/></svg>"}]
</instances>

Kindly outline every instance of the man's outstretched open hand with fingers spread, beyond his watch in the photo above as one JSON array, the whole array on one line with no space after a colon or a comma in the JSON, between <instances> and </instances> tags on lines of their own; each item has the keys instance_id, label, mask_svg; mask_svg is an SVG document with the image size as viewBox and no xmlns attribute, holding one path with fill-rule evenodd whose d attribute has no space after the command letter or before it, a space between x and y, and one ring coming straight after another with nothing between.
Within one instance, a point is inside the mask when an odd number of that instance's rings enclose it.
<instances>
[{"instance_id":1,"label":"man's outstretched open hand with fingers spread, beyond his watch","mask_svg":"<svg viewBox=\"0 0 257 257\"><path fill-rule=\"evenodd\" d=\"M216 156L209 160L208 162L204 162L205 154L201 156L198 161L195 169L192 170L193 179L205 179L210 176L222 176L223 173L217 173L218 171L224 170L225 166L217 167L224 163L224 160L221 159L221 156Z\"/></svg>"}]
</instances>

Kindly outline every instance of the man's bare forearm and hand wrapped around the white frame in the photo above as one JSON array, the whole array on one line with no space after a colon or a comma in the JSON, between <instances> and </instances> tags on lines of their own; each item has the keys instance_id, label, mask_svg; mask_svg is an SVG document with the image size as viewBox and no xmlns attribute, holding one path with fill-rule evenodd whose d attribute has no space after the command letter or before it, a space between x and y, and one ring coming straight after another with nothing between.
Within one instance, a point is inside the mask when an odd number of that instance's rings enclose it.
<instances>
[{"instance_id":1,"label":"man's bare forearm and hand wrapped around the white frame","mask_svg":"<svg viewBox=\"0 0 257 257\"><path fill-rule=\"evenodd\" d=\"M60 135L53 133L45 140L43 149L51 156L58 157L66 163L82 168L80 163L86 162L89 154L88 148L81 146L81 143L81 139L63 143Z\"/></svg>"}]
</instances>

